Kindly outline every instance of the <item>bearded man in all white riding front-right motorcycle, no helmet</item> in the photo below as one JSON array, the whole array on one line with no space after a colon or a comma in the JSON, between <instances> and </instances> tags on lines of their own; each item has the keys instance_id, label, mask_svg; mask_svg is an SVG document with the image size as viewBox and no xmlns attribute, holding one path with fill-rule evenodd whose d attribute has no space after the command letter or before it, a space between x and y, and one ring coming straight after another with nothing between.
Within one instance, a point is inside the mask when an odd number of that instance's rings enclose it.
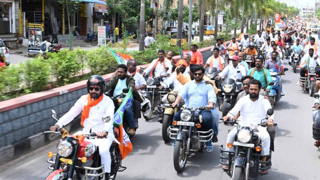
<instances>
[{"instance_id":1,"label":"bearded man in all white riding front-right motorcycle, no helmet","mask_svg":"<svg viewBox=\"0 0 320 180\"><path fill-rule=\"evenodd\" d=\"M237 114L240 111L241 114L241 121L239 121L239 125L243 126L250 126L251 124L259 124L261 119L266 118L267 110L271 109L270 102L264 99L263 96L259 95L261 89L260 81L253 79L248 83L249 86L249 96L244 96L243 98L239 99L236 103L235 107L229 111L228 115L223 117L224 121L228 119L232 119L234 114ZM268 119L268 126L273 126L273 119L274 115ZM270 151L270 136L268 131L265 127L258 126L258 131L255 132L262 142L261 147L261 154L268 155ZM237 128L233 128L227 137L227 143L233 143L235 141L235 136L237 133ZM229 150L228 146L226 150ZM266 161L267 157L263 157L262 161ZM261 165L263 166L263 164ZM227 167L222 167L226 169ZM261 174L268 174L268 170L261 171Z\"/></svg>"}]
</instances>

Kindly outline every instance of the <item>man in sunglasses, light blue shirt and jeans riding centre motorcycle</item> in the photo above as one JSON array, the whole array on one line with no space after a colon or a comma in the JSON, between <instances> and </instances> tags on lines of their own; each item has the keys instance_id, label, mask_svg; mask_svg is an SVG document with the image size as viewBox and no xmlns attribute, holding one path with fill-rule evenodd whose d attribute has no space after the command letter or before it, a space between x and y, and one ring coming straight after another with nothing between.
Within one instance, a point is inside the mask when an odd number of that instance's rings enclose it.
<instances>
[{"instance_id":1,"label":"man in sunglasses, light blue shirt and jeans riding centre motorcycle","mask_svg":"<svg viewBox=\"0 0 320 180\"><path fill-rule=\"evenodd\" d=\"M172 103L175 107L183 100L188 108L196 108L200 106L207 106L208 110L201 110L199 114L203 117L203 127L205 131L212 129L212 115L211 109L214 108L214 104L217 100L216 94L214 93L213 87L210 84L206 84L203 79L204 68L201 66L196 66L193 68L194 80L188 82L182 87L176 101ZM180 121L181 111L178 111L174 115L175 121ZM213 146L211 142L206 142L207 151L213 151Z\"/></svg>"}]
</instances>

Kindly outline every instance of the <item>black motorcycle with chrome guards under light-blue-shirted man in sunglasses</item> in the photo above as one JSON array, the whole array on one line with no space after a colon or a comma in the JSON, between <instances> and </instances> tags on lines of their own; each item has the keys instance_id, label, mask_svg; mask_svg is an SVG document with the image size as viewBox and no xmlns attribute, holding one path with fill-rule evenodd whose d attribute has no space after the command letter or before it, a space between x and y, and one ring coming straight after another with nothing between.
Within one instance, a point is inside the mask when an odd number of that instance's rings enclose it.
<instances>
[{"instance_id":1,"label":"black motorcycle with chrome guards under light-blue-shirted man in sunglasses","mask_svg":"<svg viewBox=\"0 0 320 180\"><path fill-rule=\"evenodd\" d=\"M173 151L173 165L177 172L182 172L187 164L190 151L204 152L205 142L210 142L213 130L200 131L203 122L199 110L207 110L206 107L183 108L181 121L173 121L173 126L169 127L171 139L175 139Z\"/></svg>"}]
</instances>

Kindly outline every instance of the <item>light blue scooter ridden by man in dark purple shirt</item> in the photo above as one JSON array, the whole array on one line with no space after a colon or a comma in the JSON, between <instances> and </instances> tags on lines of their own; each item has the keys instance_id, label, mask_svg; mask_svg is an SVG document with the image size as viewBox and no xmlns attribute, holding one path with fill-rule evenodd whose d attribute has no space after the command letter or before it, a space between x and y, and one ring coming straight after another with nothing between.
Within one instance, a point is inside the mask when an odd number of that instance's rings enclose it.
<instances>
[{"instance_id":1,"label":"light blue scooter ridden by man in dark purple shirt","mask_svg":"<svg viewBox=\"0 0 320 180\"><path fill-rule=\"evenodd\" d=\"M284 71L287 71L288 68L284 68ZM273 99L273 102L279 101L281 97L283 96L281 94L282 92L282 84L281 84L281 72L279 72L277 69L270 69L270 75L273 81L272 89L269 91L269 97L270 99Z\"/></svg>"}]
</instances>

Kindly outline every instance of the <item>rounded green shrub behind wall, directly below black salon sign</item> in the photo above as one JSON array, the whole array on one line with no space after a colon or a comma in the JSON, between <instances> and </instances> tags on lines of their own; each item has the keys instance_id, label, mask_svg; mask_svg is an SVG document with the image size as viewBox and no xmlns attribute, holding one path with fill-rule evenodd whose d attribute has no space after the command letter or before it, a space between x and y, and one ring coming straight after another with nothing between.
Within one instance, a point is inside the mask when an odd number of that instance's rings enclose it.
<instances>
[{"instance_id":1,"label":"rounded green shrub behind wall, directly below black salon sign","mask_svg":"<svg viewBox=\"0 0 320 180\"><path fill-rule=\"evenodd\" d=\"M50 67L42 59L27 60L23 68L23 87L26 93L45 90L50 79Z\"/></svg>"}]
</instances>

